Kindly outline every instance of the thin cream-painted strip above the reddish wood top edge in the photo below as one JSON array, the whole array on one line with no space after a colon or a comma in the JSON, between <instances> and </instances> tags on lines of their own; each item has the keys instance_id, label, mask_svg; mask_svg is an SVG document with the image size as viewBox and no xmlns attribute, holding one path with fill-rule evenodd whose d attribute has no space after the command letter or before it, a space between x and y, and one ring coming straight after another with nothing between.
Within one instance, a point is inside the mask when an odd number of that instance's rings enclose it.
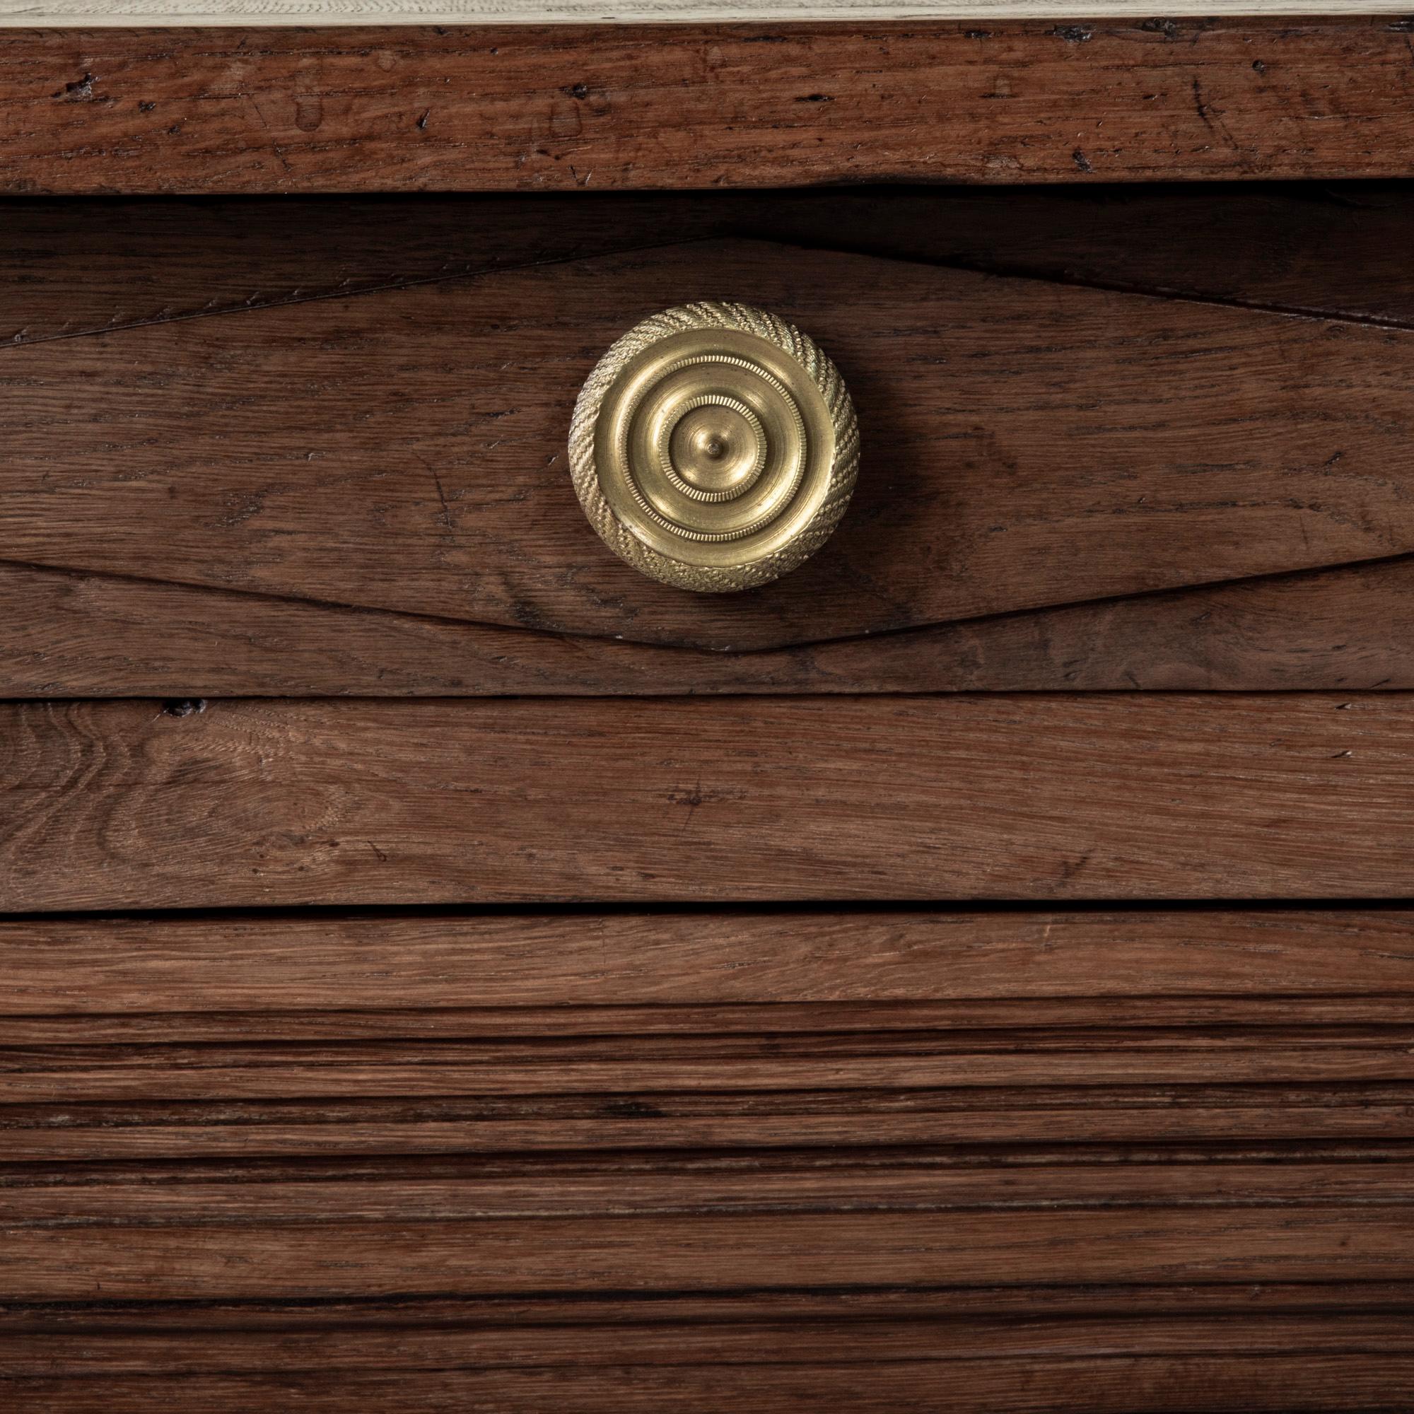
<instances>
[{"instance_id":1,"label":"thin cream-painted strip above the reddish wood top edge","mask_svg":"<svg viewBox=\"0 0 1414 1414\"><path fill-rule=\"evenodd\" d=\"M0 0L0 28L1407 16L1414 0Z\"/></svg>"}]
</instances>

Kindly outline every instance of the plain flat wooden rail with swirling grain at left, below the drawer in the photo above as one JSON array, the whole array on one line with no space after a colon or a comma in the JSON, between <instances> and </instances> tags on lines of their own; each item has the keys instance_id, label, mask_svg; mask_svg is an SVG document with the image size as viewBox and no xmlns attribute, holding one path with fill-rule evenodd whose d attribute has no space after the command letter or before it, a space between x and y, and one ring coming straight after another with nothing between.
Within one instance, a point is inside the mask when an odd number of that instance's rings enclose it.
<instances>
[{"instance_id":1,"label":"plain flat wooden rail with swirling grain at left, below the drawer","mask_svg":"<svg viewBox=\"0 0 1414 1414\"><path fill-rule=\"evenodd\" d=\"M3 723L7 909L1410 892L1401 693L124 701Z\"/></svg>"}]
</instances>

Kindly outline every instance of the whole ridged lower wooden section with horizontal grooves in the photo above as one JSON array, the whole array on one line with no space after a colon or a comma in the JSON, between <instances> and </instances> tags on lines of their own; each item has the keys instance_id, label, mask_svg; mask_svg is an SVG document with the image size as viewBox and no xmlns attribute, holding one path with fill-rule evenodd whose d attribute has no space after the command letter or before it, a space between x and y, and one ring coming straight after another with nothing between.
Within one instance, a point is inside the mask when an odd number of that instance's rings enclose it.
<instances>
[{"instance_id":1,"label":"whole ridged lower wooden section with horizontal grooves","mask_svg":"<svg viewBox=\"0 0 1414 1414\"><path fill-rule=\"evenodd\" d=\"M7 922L7 1407L1396 1410L1411 942L1407 909Z\"/></svg>"}]
</instances>

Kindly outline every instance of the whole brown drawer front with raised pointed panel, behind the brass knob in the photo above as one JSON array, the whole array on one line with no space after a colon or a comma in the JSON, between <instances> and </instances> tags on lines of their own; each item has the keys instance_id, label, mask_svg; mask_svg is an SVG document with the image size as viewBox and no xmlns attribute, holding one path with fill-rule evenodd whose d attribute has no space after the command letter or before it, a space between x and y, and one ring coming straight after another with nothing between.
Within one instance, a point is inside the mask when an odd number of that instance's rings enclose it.
<instances>
[{"instance_id":1,"label":"whole brown drawer front with raised pointed panel, behind the brass knob","mask_svg":"<svg viewBox=\"0 0 1414 1414\"><path fill-rule=\"evenodd\" d=\"M0 687L1408 686L1414 206L1350 201L129 204L102 257L20 205ZM708 297L814 335L863 436L834 536L749 594L618 563L568 477L595 361Z\"/></svg>"}]
</instances>

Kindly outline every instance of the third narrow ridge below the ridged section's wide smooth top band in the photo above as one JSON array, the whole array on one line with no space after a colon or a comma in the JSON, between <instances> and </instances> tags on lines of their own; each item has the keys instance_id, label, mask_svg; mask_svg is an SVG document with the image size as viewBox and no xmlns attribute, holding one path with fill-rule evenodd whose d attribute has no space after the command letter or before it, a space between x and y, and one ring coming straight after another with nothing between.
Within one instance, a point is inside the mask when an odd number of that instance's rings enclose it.
<instances>
[{"instance_id":1,"label":"third narrow ridge below the ridged section's wide smooth top band","mask_svg":"<svg viewBox=\"0 0 1414 1414\"><path fill-rule=\"evenodd\" d=\"M1336 1086L1080 1086L785 1092L779 1096L624 1094L527 1100L112 1102L13 1104L0 1111L13 1164L344 1162L365 1165L506 1152L537 1158L622 1151L814 1151L1011 1147L1066 1162L1191 1145L1254 1161L1318 1151L1383 1162L1414 1140L1407 1083ZM1116 1152L1117 1147L1117 1152Z\"/></svg>"}]
</instances>

